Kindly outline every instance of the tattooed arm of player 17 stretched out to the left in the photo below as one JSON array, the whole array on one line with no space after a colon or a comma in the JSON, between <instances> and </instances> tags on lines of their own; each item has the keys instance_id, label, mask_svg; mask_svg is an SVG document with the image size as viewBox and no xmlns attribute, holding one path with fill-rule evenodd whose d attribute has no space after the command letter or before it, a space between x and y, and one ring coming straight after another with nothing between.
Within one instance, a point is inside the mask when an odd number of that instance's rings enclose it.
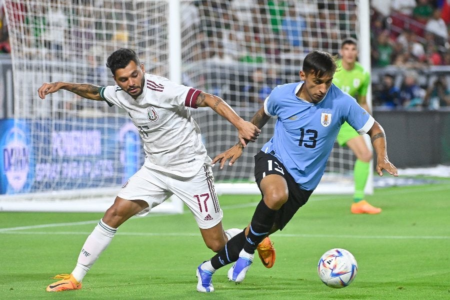
<instances>
[{"instance_id":1,"label":"tattooed arm of player 17 stretched out to the left","mask_svg":"<svg viewBox=\"0 0 450 300\"><path fill-rule=\"evenodd\" d=\"M59 90L67 90L76 95L90 100L102 101L100 90L102 87L88 83L70 83L70 82L49 82L44 83L37 89L40 99L45 99L45 95L57 92Z\"/></svg>"}]
</instances>

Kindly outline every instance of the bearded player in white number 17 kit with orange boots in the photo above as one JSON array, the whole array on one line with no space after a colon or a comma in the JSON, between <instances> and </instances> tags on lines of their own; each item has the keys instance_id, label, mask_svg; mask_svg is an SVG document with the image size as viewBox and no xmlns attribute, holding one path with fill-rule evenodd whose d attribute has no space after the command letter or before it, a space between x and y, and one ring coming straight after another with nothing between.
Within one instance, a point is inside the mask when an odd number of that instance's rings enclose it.
<instances>
[{"instance_id":1,"label":"bearded player in white number 17 kit with orange boots","mask_svg":"<svg viewBox=\"0 0 450 300\"><path fill-rule=\"evenodd\" d=\"M61 280L48 285L47 291L81 288L83 277L109 245L117 228L133 215L148 214L151 208L171 195L176 195L189 207L206 246L211 250L220 250L230 237L242 232L235 228L223 230L211 159L206 154L200 130L188 107L212 108L237 128L242 146L247 141L255 141L260 130L241 119L217 96L146 74L144 65L131 49L114 51L106 66L117 85L44 83L38 89L38 95L44 99L45 95L63 89L122 108L139 131L145 162L122 186L112 206L87 237L71 274L55 276ZM262 254L270 259L274 249L269 240L264 243Z\"/></svg>"}]
</instances>

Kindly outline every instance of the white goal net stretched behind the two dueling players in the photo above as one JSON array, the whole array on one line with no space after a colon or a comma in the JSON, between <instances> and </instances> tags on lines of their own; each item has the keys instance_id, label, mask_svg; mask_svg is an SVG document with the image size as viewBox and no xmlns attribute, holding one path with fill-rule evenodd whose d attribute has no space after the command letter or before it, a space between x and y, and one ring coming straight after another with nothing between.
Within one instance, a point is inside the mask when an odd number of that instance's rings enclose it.
<instances>
[{"instance_id":1,"label":"white goal net stretched behind the two dueling players","mask_svg":"<svg viewBox=\"0 0 450 300\"><path fill-rule=\"evenodd\" d=\"M3 1L14 90L13 115L0 123L3 210L104 210L143 163L123 111L67 91L41 100L43 82L114 85L106 58L132 48L147 73L218 95L249 120L274 86L299 80L310 50L337 54L341 39L360 38L358 1ZM212 110L193 115L211 157L236 142L235 128ZM258 193L253 155L274 121L234 166L214 168L218 193ZM336 146L318 191L351 192L353 162Z\"/></svg>"}]
</instances>

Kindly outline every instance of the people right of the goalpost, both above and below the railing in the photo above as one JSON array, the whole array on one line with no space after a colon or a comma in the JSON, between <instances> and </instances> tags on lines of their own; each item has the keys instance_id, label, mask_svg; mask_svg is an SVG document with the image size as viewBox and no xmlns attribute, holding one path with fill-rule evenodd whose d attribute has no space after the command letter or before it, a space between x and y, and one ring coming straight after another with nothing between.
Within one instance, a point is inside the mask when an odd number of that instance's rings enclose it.
<instances>
[{"instance_id":1,"label":"people right of the goalpost, both above and below the railing","mask_svg":"<svg viewBox=\"0 0 450 300\"><path fill-rule=\"evenodd\" d=\"M373 105L450 108L450 1L372 0L371 5L372 71L381 71L380 78L372 78Z\"/></svg>"}]
</instances>

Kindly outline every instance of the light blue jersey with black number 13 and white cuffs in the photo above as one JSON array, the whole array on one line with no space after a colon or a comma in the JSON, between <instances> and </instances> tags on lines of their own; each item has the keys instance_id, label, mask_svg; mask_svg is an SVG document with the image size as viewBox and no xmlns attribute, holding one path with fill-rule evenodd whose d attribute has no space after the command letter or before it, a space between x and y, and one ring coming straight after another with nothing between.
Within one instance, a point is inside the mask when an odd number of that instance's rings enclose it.
<instances>
[{"instance_id":1,"label":"light blue jersey with black number 13 and white cuffs","mask_svg":"<svg viewBox=\"0 0 450 300\"><path fill-rule=\"evenodd\" d=\"M344 121L362 135L375 120L334 84L319 103L300 99L295 94L302 84L277 86L265 99L265 113L277 120L273 137L261 150L278 158L301 189L313 190Z\"/></svg>"}]
</instances>

